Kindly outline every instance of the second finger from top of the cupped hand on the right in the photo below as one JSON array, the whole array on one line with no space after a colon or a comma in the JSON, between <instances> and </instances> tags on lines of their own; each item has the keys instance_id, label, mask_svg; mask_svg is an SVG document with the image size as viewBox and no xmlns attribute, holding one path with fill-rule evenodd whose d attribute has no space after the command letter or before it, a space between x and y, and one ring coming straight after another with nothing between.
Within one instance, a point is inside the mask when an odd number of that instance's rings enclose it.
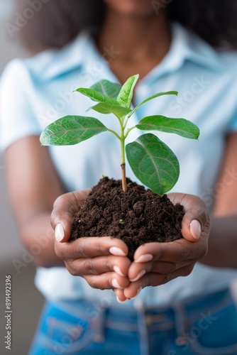
<instances>
[{"instance_id":1,"label":"second finger from top of the cupped hand on the right","mask_svg":"<svg viewBox=\"0 0 237 355\"><path fill-rule=\"evenodd\" d=\"M192 260L185 260L181 263L153 261L150 263L132 263L128 270L128 278L131 282L135 282L145 275L145 273L172 273L178 268L188 266Z\"/></svg>"}]
</instances>

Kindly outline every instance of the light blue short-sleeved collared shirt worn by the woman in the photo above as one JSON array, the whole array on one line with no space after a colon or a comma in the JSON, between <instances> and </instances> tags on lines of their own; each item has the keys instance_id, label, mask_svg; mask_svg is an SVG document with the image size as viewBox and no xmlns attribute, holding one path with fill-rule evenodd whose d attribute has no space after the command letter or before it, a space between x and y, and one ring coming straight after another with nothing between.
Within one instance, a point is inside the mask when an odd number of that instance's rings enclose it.
<instances>
[{"instance_id":1,"label":"light blue short-sleeved collared shirt worn by the woman","mask_svg":"<svg viewBox=\"0 0 237 355\"><path fill-rule=\"evenodd\" d=\"M119 53L110 50L110 54L106 50L102 56L89 33L83 32L62 50L47 50L28 60L10 62L1 77L1 147L6 148L24 136L40 134L50 122L67 114L96 116L111 129L118 129L114 116L87 112L92 102L78 93L72 94L77 87L90 87L101 79L118 82L106 60L113 60ZM199 126L199 141L167 133L158 136L180 160L180 178L173 191L199 195L211 210L214 196L224 190L224 186L216 184L224 139L226 133L237 130L236 53L217 54L181 26L172 26L169 53L137 85L134 102L138 104L156 92L170 90L177 90L178 97L160 97L145 104L131 117L130 125L143 116L162 114L183 117ZM119 143L111 133L102 134L77 146L50 147L53 163L67 190L92 187L101 174L121 178ZM138 132L133 130L128 142L137 136ZM127 175L137 181L130 168ZM228 181L236 180L236 176L236 170L226 171ZM237 278L236 271L197 263L186 278L145 288L137 298L145 305L170 303L221 288L233 278ZM99 297L109 305L116 302L112 291L94 290L66 268L38 268L35 282L51 299Z\"/></svg>"}]
</instances>

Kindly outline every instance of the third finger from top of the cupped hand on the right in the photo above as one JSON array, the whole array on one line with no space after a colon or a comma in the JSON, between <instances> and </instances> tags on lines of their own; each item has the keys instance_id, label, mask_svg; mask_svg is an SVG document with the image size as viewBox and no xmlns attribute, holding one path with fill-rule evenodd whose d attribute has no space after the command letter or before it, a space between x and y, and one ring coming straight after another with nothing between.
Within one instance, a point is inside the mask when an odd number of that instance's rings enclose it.
<instances>
[{"instance_id":1,"label":"third finger from top of the cupped hand on the right","mask_svg":"<svg viewBox=\"0 0 237 355\"><path fill-rule=\"evenodd\" d=\"M172 273L147 273L143 276L143 278L140 278L140 280L131 283L130 285L128 285L127 288L124 288L123 295L124 297L131 299L133 297L136 297L140 293L140 290L142 290L143 288L147 286L155 287L164 285L165 283L168 283L169 281L179 276L187 276L192 272L193 268L194 263L190 264L189 266L179 268L178 270L173 271Z\"/></svg>"}]
</instances>

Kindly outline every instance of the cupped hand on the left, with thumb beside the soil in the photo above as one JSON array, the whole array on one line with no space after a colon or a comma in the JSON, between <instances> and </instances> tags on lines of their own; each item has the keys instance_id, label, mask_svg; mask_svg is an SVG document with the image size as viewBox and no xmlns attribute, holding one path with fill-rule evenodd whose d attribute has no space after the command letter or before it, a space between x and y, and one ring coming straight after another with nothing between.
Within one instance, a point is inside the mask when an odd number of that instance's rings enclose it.
<instances>
[{"instance_id":1,"label":"cupped hand on the left, with thumb beside the soil","mask_svg":"<svg viewBox=\"0 0 237 355\"><path fill-rule=\"evenodd\" d=\"M126 257L128 247L121 239L95 236L68 241L72 217L89 192L90 189L69 192L55 201L51 215L51 224L55 229L55 252L72 275L81 276L92 288L126 288L130 284L128 269L131 261Z\"/></svg>"}]
</instances>

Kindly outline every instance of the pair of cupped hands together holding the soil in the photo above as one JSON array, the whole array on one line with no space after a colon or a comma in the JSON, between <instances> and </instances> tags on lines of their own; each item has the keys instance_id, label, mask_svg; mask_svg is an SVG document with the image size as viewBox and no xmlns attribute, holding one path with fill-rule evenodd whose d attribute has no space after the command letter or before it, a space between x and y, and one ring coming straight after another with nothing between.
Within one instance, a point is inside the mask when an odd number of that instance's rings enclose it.
<instances>
[{"instance_id":1,"label":"pair of cupped hands together holding the soil","mask_svg":"<svg viewBox=\"0 0 237 355\"><path fill-rule=\"evenodd\" d=\"M128 247L110 236L85 237L67 242L72 217L82 206L90 190L70 192L57 198L52 213L55 252L72 275L82 276L93 288L116 290L118 300L136 297L146 286L158 286L191 273L194 264L206 255L210 222L199 197L170 194L174 204L184 206L182 236L169 243L148 243L128 260Z\"/></svg>"}]
</instances>

